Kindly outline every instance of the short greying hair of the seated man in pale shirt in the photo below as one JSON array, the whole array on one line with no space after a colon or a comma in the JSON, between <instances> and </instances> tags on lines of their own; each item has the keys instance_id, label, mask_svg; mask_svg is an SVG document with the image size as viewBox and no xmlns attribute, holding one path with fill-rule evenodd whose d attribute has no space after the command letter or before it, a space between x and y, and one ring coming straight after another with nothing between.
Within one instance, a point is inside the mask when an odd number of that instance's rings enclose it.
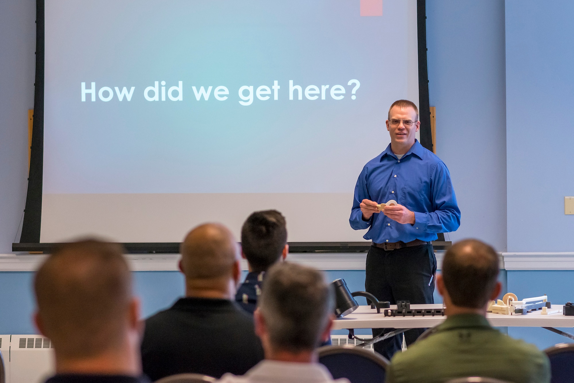
<instances>
[{"instance_id":1,"label":"short greying hair of the seated man in pale shirt","mask_svg":"<svg viewBox=\"0 0 574 383\"><path fill-rule=\"evenodd\" d=\"M259 310L276 350L314 350L335 307L335 292L323 272L290 262L269 269Z\"/></svg>"}]
</instances>

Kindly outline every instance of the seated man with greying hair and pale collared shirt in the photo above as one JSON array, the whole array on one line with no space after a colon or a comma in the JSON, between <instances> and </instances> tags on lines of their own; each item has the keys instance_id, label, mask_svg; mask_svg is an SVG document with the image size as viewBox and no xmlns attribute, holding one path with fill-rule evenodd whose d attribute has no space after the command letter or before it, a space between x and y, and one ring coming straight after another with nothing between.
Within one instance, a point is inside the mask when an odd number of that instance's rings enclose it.
<instances>
[{"instance_id":1,"label":"seated man with greying hair and pale collared shirt","mask_svg":"<svg viewBox=\"0 0 574 383\"><path fill-rule=\"evenodd\" d=\"M220 382L333 382L317 362L316 349L329 338L334 306L335 293L323 272L289 262L274 265L254 314L265 360L244 376L226 374Z\"/></svg>"}]
</instances>

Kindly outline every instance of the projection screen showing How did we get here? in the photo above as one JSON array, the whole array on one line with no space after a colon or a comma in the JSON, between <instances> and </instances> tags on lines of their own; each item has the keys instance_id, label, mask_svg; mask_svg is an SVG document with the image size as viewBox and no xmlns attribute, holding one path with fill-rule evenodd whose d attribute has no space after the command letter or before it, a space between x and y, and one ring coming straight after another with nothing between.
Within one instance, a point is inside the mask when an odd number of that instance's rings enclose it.
<instances>
[{"instance_id":1,"label":"projection screen showing How did we get here?","mask_svg":"<svg viewBox=\"0 0 574 383\"><path fill-rule=\"evenodd\" d=\"M416 0L45 0L44 22L40 242L239 238L263 209L289 241L364 241L356 179L419 100Z\"/></svg>"}]
</instances>

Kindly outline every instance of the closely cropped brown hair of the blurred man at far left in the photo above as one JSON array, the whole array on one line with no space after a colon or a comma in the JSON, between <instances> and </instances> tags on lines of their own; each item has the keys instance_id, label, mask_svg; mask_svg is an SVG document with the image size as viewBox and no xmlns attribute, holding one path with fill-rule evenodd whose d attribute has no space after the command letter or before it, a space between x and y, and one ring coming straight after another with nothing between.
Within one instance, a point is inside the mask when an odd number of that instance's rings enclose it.
<instances>
[{"instance_id":1,"label":"closely cropped brown hair of the blurred man at far left","mask_svg":"<svg viewBox=\"0 0 574 383\"><path fill-rule=\"evenodd\" d=\"M36 272L42 330L64 357L94 357L123 342L132 295L122 250L98 240L63 244Z\"/></svg>"}]
</instances>

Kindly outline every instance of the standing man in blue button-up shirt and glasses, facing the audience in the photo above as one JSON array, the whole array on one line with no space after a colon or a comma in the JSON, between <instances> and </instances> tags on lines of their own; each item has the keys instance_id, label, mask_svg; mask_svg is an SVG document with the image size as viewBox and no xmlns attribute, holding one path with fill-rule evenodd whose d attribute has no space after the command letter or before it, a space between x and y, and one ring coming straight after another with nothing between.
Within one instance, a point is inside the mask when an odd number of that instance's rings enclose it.
<instances>
[{"instance_id":1,"label":"standing man in blue button-up shirt and glasses, facing the audience","mask_svg":"<svg viewBox=\"0 0 574 383\"><path fill-rule=\"evenodd\" d=\"M434 303L436 258L431 241L437 233L459 228L460 210L447 167L415 139L420 127L416 105L395 101L386 126L391 143L363 167L349 218L353 229L368 228L363 238L373 241L365 290L391 304ZM389 200L397 205L377 208ZM406 331L407 345L422 331ZM379 333L373 329L373 336ZM375 351L390 360L401 349L401 339L398 335L375 343Z\"/></svg>"}]
</instances>

